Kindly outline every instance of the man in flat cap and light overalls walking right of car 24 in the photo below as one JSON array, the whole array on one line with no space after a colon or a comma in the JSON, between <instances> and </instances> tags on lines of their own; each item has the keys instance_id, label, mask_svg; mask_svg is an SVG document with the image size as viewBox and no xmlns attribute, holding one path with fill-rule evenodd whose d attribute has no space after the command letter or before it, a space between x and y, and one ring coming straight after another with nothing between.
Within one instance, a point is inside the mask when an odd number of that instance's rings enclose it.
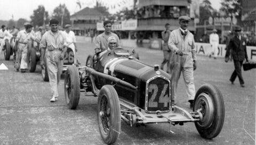
<instances>
[{"instance_id":1,"label":"man in flat cap and light overalls walking right of car 24","mask_svg":"<svg viewBox=\"0 0 256 145\"><path fill-rule=\"evenodd\" d=\"M173 63L171 80L174 82L174 99L177 97L176 90L180 73L182 72L190 108L193 108L195 98L194 70L196 70L196 50L194 35L187 30L189 21L190 18L188 16L180 16L180 28L171 32L168 45L175 54L171 61Z\"/></svg>"}]
</instances>

